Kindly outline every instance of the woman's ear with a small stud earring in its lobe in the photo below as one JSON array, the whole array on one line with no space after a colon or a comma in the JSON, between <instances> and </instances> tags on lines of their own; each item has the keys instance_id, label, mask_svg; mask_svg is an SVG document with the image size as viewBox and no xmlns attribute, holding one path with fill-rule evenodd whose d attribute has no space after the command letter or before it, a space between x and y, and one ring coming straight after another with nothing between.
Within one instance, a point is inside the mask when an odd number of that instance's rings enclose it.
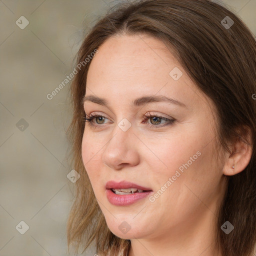
<instances>
[{"instance_id":1,"label":"woman's ear with a small stud earring in its lobe","mask_svg":"<svg viewBox=\"0 0 256 256\"><path fill-rule=\"evenodd\" d=\"M250 161L252 155L251 132L250 129L246 130L246 134L239 136L232 143L229 148L231 153L225 153L225 163L222 170L224 175L234 175L243 171ZM234 167L232 168L232 166Z\"/></svg>"}]
</instances>

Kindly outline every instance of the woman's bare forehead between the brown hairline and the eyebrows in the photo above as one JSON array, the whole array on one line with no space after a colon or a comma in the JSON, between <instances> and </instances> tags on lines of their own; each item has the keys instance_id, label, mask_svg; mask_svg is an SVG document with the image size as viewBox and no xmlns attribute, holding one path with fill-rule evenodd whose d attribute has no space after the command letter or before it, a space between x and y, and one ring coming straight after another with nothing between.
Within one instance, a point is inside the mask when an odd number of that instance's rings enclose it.
<instances>
[{"instance_id":1,"label":"woman's bare forehead between the brown hairline and the eyebrows","mask_svg":"<svg viewBox=\"0 0 256 256\"><path fill-rule=\"evenodd\" d=\"M178 80L170 76L173 68L182 72ZM106 98L116 108L145 95L165 95L188 108L209 102L165 44L148 35L108 38L90 62L86 87L85 95Z\"/></svg>"}]
</instances>

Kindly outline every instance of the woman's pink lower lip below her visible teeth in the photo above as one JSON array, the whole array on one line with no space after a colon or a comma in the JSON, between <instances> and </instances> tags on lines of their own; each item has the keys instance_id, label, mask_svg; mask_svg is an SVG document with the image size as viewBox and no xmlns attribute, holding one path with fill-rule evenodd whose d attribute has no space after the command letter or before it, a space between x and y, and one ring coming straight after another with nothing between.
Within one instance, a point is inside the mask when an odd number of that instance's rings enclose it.
<instances>
[{"instance_id":1,"label":"woman's pink lower lip below her visible teeth","mask_svg":"<svg viewBox=\"0 0 256 256\"><path fill-rule=\"evenodd\" d=\"M118 205L118 206L125 206L132 204L139 199L142 199L146 196L148 196L150 193L153 191L147 191L147 192L137 192L133 194L115 194L112 189L106 189L106 197L110 203L113 205Z\"/></svg>"}]
</instances>

